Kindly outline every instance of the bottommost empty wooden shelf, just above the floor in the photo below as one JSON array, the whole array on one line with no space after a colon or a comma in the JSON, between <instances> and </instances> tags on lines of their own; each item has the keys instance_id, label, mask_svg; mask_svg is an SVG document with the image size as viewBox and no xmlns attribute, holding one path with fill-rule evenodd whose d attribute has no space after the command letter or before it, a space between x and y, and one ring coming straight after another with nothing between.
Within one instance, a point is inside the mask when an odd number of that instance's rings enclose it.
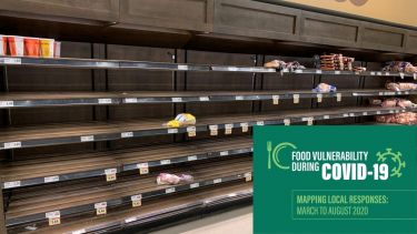
<instances>
[{"instance_id":1,"label":"bottommost empty wooden shelf, just above the floor","mask_svg":"<svg viewBox=\"0 0 417 234\"><path fill-rule=\"evenodd\" d=\"M252 183L239 183L227 186L208 187L192 193L178 194L169 200L149 201L139 208L123 208L95 218L85 217L76 221L62 220L60 225L40 226L29 233L33 234L75 234L105 232L138 226L165 217L173 217L188 212L205 212L217 204L230 204L247 201L252 196ZM8 233L26 233L27 225L10 227Z\"/></svg>"}]
</instances>

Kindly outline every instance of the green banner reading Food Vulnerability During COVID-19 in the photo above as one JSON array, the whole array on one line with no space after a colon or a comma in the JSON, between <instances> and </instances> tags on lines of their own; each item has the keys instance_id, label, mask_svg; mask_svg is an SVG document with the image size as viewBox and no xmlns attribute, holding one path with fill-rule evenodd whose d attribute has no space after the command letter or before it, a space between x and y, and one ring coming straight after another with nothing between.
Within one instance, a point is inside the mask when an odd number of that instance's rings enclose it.
<instances>
[{"instance_id":1,"label":"green banner reading Food Vulnerability During COVID-19","mask_svg":"<svg viewBox=\"0 0 417 234\"><path fill-rule=\"evenodd\" d=\"M255 233L417 233L416 126L256 126Z\"/></svg>"}]
</instances>

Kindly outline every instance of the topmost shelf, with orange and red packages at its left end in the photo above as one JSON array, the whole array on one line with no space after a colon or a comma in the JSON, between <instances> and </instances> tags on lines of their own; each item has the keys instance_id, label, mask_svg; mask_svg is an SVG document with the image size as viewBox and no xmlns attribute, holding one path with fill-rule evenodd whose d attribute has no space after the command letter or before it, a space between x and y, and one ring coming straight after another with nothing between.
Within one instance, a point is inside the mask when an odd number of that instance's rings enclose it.
<instances>
[{"instance_id":1,"label":"topmost shelf, with orange and red packages at its left end","mask_svg":"<svg viewBox=\"0 0 417 234\"><path fill-rule=\"evenodd\" d=\"M97 59L44 59L27 57L0 57L0 65L12 67L40 67L40 68L62 68L62 69L140 69L140 70L162 70L162 71L216 71L216 72L249 72L249 73L280 73L276 69L264 67L236 67L236 65L211 65L211 64L183 64L150 61L126 61L126 60L97 60ZM332 75L377 75L377 77L413 77L417 80L417 73L385 72L385 71L328 71L320 69L304 69L289 71L285 69L282 73L295 74L332 74Z\"/></svg>"}]
</instances>

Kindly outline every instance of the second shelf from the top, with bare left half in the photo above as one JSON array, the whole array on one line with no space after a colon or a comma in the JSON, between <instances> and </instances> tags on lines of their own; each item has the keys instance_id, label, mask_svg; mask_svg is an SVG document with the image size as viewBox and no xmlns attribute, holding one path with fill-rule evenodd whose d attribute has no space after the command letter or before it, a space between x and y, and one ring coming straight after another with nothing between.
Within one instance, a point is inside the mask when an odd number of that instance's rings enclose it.
<instances>
[{"instance_id":1,"label":"second shelf from the top, with bare left half","mask_svg":"<svg viewBox=\"0 0 417 234\"><path fill-rule=\"evenodd\" d=\"M60 93L2 93L0 109L37 108L63 105L111 105L131 103L186 103L186 102L221 102L221 101L257 101L288 100L297 95L299 99L349 96L393 96L417 94L413 91L379 90L340 90L335 93L316 93L306 90L287 91L221 91L221 92L60 92Z\"/></svg>"}]
</instances>

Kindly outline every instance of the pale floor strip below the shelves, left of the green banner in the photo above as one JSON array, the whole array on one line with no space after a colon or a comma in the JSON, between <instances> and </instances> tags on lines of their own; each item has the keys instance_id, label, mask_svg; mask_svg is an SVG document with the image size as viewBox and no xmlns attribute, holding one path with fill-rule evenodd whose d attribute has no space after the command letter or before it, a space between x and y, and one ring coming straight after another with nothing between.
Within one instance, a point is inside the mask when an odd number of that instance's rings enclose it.
<instances>
[{"instance_id":1,"label":"pale floor strip below the shelves, left of the green banner","mask_svg":"<svg viewBox=\"0 0 417 234\"><path fill-rule=\"evenodd\" d=\"M245 206L207 216L201 220L171 226L151 234L224 234L252 233L252 206Z\"/></svg>"}]
</instances>

